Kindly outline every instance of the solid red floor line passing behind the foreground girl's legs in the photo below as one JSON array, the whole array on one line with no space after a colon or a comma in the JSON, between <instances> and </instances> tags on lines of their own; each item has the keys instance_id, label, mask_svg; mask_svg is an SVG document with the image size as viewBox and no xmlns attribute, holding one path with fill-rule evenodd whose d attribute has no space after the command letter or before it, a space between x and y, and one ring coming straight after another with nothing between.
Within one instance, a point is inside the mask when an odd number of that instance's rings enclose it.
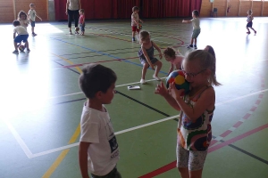
<instances>
[{"instance_id":1,"label":"solid red floor line passing behind the foreground girl's legs","mask_svg":"<svg viewBox=\"0 0 268 178\"><path fill-rule=\"evenodd\" d=\"M257 132L259 132L261 130L264 130L267 127L268 127L268 124L259 126L259 127L255 128L255 129L251 130L251 131L248 131L245 134L240 134L239 136L234 137L234 138L230 139L229 141L222 142L222 143L220 143L220 144L218 144L218 145L216 145L214 147L210 147L208 149L208 153L211 153L211 152L213 152L215 150L222 149L223 147L225 147L225 146L227 146L227 145L229 145L229 144L231 144L233 142L238 142L239 140L241 140L241 139L243 139L243 138L245 138L245 137L247 137L247 136L249 136L251 134L255 134L255 133L257 133ZM163 174L164 172L167 172L167 171L169 171L169 170L171 170L171 169L173 169L175 167L176 167L176 161L173 161L172 163L170 163L170 164L168 164L166 166L160 167L160 168L156 169L155 171L152 171L151 173L141 175L138 178L151 178L151 177L154 177L156 175Z\"/></svg>"}]
</instances>

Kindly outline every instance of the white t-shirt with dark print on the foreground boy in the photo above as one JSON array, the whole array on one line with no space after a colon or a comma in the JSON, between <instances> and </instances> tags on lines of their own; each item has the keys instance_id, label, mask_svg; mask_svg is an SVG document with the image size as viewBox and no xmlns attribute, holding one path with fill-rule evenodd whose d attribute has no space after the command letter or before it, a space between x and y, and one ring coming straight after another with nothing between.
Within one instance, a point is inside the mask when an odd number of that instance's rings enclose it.
<instances>
[{"instance_id":1,"label":"white t-shirt with dark print on the foreground boy","mask_svg":"<svg viewBox=\"0 0 268 178\"><path fill-rule=\"evenodd\" d=\"M90 142L88 171L102 176L110 173L119 160L119 149L108 112L91 109L84 103L80 142Z\"/></svg>"}]
</instances>

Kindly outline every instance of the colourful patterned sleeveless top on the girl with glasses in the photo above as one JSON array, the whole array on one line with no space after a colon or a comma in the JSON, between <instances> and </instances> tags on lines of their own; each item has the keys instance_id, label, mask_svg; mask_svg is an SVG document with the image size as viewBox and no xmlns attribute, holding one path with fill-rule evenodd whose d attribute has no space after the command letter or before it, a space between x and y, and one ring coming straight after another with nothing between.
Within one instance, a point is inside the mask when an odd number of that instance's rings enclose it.
<instances>
[{"instance_id":1,"label":"colourful patterned sleeveless top on the girl with glasses","mask_svg":"<svg viewBox=\"0 0 268 178\"><path fill-rule=\"evenodd\" d=\"M208 88L196 93L194 96L184 96L184 101L188 106L193 105L198 101L201 94ZM209 143L212 140L211 121L214 116L214 110L205 110L205 112L197 118L196 121L191 121L186 114L181 110L180 120L178 124L178 143L185 150L207 150Z\"/></svg>"}]
</instances>

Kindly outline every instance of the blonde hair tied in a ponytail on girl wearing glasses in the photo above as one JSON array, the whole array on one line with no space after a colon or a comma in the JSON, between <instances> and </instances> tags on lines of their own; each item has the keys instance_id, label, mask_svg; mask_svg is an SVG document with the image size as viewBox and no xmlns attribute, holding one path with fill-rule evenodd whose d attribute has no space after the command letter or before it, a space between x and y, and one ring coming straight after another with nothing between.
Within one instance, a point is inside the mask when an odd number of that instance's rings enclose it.
<instances>
[{"instance_id":1,"label":"blonde hair tied in a ponytail on girl wearing glasses","mask_svg":"<svg viewBox=\"0 0 268 178\"><path fill-rule=\"evenodd\" d=\"M211 53L205 50L196 50L188 53L183 61L197 61L201 69L211 70L208 82L210 85L221 85L216 79L216 59Z\"/></svg>"}]
</instances>

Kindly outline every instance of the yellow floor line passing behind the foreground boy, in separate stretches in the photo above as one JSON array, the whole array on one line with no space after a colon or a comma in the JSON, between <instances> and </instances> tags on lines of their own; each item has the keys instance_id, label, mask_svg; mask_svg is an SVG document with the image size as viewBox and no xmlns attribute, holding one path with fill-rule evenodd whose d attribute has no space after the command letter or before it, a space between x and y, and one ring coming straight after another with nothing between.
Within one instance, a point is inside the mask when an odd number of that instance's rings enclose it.
<instances>
[{"instance_id":1,"label":"yellow floor line passing behind the foreground boy, in separate stretches","mask_svg":"<svg viewBox=\"0 0 268 178\"><path fill-rule=\"evenodd\" d=\"M54 56L57 56L58 58L61 58L63 61L68 62L69 64L73 65L74 63L72 63L71 61L56 55L54 53L52 53ZM82 73L82 70L79 67L75 67L80 73ZM72 134L70 141L68 142L69 144L75 142L77 140L77 138L80 135L80 124L78 125L78 127L76 128L74 134ZM69 152L70 149L67 150L63 150L61 152L61 154L58 156L58 158L55 159L54 163L52 164L52 166L50 166L48 168L48 170L46 171L46 173L42 176L42 178L49 178L53 173L54 170L61 164L61 162L63 161L63 159L66 157L67 153Z\"/></svg>"}]
</instances>

